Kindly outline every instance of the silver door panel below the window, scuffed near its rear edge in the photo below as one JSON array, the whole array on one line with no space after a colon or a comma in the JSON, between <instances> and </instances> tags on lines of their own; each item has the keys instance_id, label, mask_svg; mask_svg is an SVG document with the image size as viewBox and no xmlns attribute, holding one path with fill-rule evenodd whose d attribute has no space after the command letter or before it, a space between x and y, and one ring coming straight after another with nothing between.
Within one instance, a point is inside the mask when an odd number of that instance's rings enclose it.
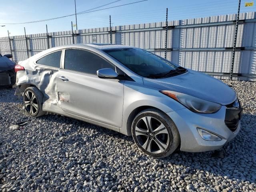
<instances>
[{"instance_id":1,"label":"silver door panel below the window, scuffed near its rear edge","mask_svg":"<svg viewBox=\"0 0 256 192\"><path fill-rule=\"evenodd\" d=\"M58 76L68 79L56 78L64 112L122 126L124 80L101 79L96 75L70 70L59 70Z\"/></svg>"}]
</instances>

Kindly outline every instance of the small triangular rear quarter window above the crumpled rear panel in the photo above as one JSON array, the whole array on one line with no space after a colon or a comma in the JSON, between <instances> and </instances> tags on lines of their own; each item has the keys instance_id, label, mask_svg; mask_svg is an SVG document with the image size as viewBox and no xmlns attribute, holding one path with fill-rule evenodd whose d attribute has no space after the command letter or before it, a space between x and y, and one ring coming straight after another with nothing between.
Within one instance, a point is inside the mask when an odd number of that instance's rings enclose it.
<instances>
[{"instance_id":1,"label":"small triangular rear quarter window above the crumpled rear panel","mask_svg":"<svg viewBox=\"0 0 256 192\"><path fill-rule=\"evenodd\" d=\"M40 65L46 65L50 67L56 67L60 68L60 57L61 57L61 52L62 51L56 51L54 53L48 54L39 60L37 60L37 64Z\"/></svg>"}]
</instances>

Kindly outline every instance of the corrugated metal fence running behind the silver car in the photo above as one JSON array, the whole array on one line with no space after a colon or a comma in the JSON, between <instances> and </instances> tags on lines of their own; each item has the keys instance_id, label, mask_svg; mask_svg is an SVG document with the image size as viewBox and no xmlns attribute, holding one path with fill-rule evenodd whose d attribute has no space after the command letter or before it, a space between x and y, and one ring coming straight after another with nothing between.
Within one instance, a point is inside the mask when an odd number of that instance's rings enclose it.
<instances>
[{"instance_id":1,"label":"corrugated metal fence running behind the silver car","mask_svg":"<svg viewBox=\"0 0 256 192\"><path fill-rule=\"evenodd\" d=\"M236 14L204 18L131 24L84 30L47 32L0 38L0 53L15 62L48 48L76 43L113 43L142 48L180 66L229 79ZM110 20L111 26L111 20ZM25 30L25 28L24 28ZM256 80L256 12L240 14L235 80Z\"/></svg>"}]
</instances>

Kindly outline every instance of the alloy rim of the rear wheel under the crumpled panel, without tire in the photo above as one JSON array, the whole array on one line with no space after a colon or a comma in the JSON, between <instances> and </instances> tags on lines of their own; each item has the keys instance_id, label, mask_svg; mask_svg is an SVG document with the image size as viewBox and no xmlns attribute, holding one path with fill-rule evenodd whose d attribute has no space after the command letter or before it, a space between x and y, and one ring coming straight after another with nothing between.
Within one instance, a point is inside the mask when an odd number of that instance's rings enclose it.
<instances>
[{"instance_id":1,"label":"alloy rim of the rear wheel under the crumpled panel, without tire","mask_svg":"<svg viewBox=\"0 0 256 192\"><path fill-rule=\"evenodd\" d=\"M38 100L35 94L31 91L27 91L24 96L24 104L26 110L34 115L38 112Z\"/></svg>"}]
</instances>

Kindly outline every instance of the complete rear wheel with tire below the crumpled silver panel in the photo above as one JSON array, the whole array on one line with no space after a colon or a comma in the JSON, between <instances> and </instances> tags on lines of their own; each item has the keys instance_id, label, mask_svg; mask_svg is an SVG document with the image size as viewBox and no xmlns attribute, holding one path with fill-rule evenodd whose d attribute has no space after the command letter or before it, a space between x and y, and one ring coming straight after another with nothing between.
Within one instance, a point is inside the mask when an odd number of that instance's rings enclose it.
<instances>
[{"instance_id":1,"label":"complete rear wheel with tire below the crumpled silver panel","mask_svg":"<svg viewBox=\"0 0 256 192\"><path fill-rule=\"evenodd\" d=\"M23 104L28 112L33 117L40 117L46 112L43 111L43 94L36 87L28 87L23 94Z\"/></svg>"}]
</instances>

